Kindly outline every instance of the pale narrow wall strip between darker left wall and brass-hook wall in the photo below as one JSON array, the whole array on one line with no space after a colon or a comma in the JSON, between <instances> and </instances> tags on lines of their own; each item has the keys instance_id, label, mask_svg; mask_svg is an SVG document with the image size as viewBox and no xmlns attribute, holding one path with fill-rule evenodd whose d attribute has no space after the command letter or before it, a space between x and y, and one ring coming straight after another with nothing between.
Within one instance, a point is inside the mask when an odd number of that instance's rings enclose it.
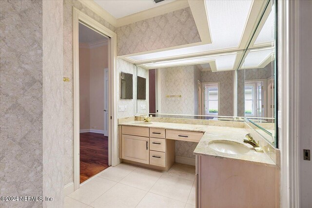
<instances>
[{"instance_id":1,"label":"pale narrow wall strip between darker left wall and brass-hook wall","mask_svg":"<svg viewBox=\"0 0 312 208\"><path fill-rule=\"evenodd\" d=\"M43 2L43 207L63 206L63 2ZM69 83L68 83L69 84ZM31 194L32 196L34 194Z\"/></svg>"}]
</instances>

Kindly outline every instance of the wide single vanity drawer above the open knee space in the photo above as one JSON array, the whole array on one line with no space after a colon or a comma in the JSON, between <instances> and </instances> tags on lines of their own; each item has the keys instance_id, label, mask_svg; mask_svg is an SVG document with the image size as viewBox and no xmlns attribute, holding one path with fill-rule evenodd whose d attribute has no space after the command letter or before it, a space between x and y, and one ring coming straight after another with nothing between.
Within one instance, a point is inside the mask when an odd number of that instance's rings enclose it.
<instances>
[{"instance_id":1,"label":"wide single vanity drawer above the open knee space","mask_svg":"<svg viewBox=\"0 0 312 208\"><path fill-rule=\"evenodd\" d=\"M167 139L175 139L190 142L199 142L201 137L204 135L203 132L190 132L180 130L166 130Z\"/></svg>"}]
</instances>

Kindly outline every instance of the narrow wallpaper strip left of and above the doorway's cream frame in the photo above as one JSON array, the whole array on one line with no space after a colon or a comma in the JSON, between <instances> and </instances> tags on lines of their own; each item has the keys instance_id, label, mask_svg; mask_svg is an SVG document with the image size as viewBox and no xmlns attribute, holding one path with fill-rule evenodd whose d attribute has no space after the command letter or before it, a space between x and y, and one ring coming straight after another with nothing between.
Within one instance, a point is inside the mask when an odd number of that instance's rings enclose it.
<instances>
[{"instance_id":1,"label":"narrow wallpaper strip left of and above the doorway's cream frame","mask_svg":"<svg viewBox=\"0 0 312 208\"><path fill-rule=\"evenodd\" d=\"M63 1L63 74L73 80L73 6L104 26L115 31L115 27L100 18L78 0ZM64 83L64 185L74 181L74 123L73 82Z\"/></svg>"}]
</instances>

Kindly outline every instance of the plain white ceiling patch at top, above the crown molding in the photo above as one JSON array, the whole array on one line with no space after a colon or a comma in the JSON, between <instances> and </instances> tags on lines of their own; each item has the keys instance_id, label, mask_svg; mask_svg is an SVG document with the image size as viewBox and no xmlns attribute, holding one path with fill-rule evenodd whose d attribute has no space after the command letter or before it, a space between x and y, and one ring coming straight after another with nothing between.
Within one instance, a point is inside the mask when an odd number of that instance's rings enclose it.
<instances>
[{"instance_id":1,"label":"plain white ceiling patch at top, above the crown molding","mask_svg":"<svg viewBox=\"0 0 312 208\"><path fill-rule=\"evenodd\" d=\"M133 15L147 9L170 3L174 0L164 0L155 3L153 0L94 0L100 7L116 19Z\"/></svg>"}]
</instances>

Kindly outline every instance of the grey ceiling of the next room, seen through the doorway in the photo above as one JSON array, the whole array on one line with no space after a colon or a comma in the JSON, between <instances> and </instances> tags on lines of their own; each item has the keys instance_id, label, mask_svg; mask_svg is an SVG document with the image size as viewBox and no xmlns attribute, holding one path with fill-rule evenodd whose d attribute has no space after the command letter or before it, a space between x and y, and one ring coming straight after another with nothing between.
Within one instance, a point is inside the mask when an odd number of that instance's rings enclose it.
<instances>
[{"instance_id":1,"label":"grey ceiling of the next room, seen through the doorway","mask_svg":"<svg viewBox=\"0 0 312 208\"><path fill-rule=\"evenodd\" d=\"M79 23L79 43L90 44L105 39L105 36Z\"/></svg>"}]
</instances>

